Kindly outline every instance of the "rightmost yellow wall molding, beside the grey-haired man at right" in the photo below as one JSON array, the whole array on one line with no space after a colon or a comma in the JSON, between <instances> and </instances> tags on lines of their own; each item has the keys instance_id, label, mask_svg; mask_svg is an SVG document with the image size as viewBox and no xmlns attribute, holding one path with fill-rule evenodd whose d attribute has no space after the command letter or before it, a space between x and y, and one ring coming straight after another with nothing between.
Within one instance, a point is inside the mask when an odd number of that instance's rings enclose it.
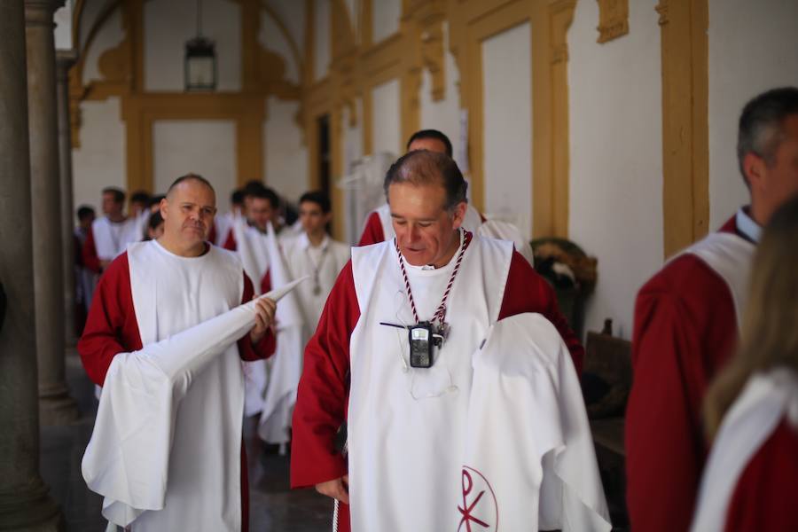
<instances>
[{"instance_id":1,"label":"rightmost yellow wall molding, beside the grey-haired man at right","mask_svg":"<svg viewBox=\"0 0 798 532\"><path fill-rule=\"evenodd\" d=\"M708 231L708 0L669 2L660 13L662 215L665 257Z\"/></svg>"}]
</instances>

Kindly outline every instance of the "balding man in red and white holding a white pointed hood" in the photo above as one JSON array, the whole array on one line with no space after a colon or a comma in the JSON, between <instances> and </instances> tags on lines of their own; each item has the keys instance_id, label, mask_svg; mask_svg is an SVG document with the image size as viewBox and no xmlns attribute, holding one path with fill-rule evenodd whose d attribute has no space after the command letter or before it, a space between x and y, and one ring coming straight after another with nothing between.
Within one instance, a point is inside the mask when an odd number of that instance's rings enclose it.
<instances>
[{"instance_id":1,"label":"balding man in red and white holding a white pointed hood","mask_svg":"<svg viewBox=\"0 0 798 532\"><path fill-rule=\"evenodd\" d=\"M106 373L116 357L127 359L134 351L253 298L252 282L235 255L206 241L215 210L215 192L205 179L195 175L179 178L161 202L164 231L160 238L129 246L100 279L78 343L83 366L98 386L106 384ZM126 522L135 519L134 530L246 530L246 457L241 441L244 376L240 360L265 358L275 347L270 332L275 303L262 299L254 310L255 325L248 334L184 382L187 389L176 411L174 434L166 434L172 445L168 464L162 465L168 471L164 499L144 506L148 510L140 515L124 516ZM137 393L149 389L147 372L138 371L135 365L121 368L122 372L130 368L131 374L112 380L114 384L129 382ZM115 397L125 394L119 389L103 393ZM177 401L170 397L172 400ZM125 408L137 408L135 403L114 403L114 415L124 415ZM165 430L157 423L152 425L147 429ZM145 457L148 451L159 454L158 450L142 450L140 456ZM112 453L106 462L124 459ZM125 462L125 466L143 465ZM140 478L133 471L129 474L130 478ZM154 494L163 488L144 489ZM132 505L130 501L121 502Z\"/></svg>"}]
</instances>

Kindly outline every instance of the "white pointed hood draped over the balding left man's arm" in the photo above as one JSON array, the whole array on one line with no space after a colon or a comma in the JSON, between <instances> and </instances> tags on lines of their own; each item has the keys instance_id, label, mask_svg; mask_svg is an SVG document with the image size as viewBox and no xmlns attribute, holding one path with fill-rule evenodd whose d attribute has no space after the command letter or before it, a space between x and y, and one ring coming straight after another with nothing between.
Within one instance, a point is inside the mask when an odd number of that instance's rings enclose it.
<instances>
[{"instance_id":1,"label":"white pointed hood draped over the balding left man's arm","mask_svg":"<svg viewBox=\"0 0 798 532\"><path fill-rule=\"evenodd\" d=\"M303 280L263 297L277 301ZM254 305L113 357L82 460L86 484L105 497L107 520L126 527L142 512L163 508L177 405L194 375L254 326Z\"/></svg>"}]
</instances>

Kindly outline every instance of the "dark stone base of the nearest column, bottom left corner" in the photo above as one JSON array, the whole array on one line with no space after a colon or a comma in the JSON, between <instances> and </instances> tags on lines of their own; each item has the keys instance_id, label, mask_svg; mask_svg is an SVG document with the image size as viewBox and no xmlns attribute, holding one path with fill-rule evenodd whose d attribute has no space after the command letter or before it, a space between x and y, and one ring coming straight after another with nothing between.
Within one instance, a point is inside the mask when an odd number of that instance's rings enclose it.
<instances>
[{"instance_id":1,"label":"dark stone base of the nearest column, bottom left corner","mask_svg":"<svg viewBox=\"0 0 798 532\"><path fill-rule=\"evenodd\" d=\"M65 529L61 509L47 495L47 486L41 479L22 489L0 492L0 530L63 532Z\"/></svg>"}]
</instances>

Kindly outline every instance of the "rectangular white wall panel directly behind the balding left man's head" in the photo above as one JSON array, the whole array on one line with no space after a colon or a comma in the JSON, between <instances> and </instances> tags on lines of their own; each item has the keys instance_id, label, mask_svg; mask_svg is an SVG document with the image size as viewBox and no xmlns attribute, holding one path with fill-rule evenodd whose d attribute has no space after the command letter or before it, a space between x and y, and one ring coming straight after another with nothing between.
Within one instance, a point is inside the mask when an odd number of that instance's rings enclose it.
<instances>
[{"instance_id":1,"label":"rectangular white wall panel directly behind the balding left man's head","mask_svg":"<svg viewBox=\"0 0 798 532\"><path fill-rule=\"evenodd\" d=\"M153 186L164 193L177 177L200 174L214 185L220 212L236 186L234 121L164 120L153 124Z\"/></svg>"}]
</instances>

